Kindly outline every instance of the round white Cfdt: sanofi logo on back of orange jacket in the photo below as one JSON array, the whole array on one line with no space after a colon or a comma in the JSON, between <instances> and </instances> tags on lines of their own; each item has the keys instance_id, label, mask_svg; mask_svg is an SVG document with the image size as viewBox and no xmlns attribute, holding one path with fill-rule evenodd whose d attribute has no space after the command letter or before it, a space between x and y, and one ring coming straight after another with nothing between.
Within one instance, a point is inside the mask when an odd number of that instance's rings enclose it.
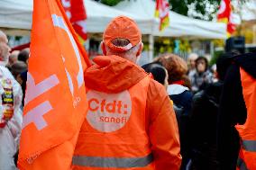
<instances>
[{"instance_id":1,"label":"round white Cfdt: sanofi logo on back of orange jacket","mask_svg":"<svg viewBox=\"0 0 256 170\"><path fill-rule=\"evenodd\" d=\"M129 121L132 101L129 92L105 94L90 90L87 93L89 104L88 123L96 130L112 132L120 130Z\"/></svg>"}]
</instances>

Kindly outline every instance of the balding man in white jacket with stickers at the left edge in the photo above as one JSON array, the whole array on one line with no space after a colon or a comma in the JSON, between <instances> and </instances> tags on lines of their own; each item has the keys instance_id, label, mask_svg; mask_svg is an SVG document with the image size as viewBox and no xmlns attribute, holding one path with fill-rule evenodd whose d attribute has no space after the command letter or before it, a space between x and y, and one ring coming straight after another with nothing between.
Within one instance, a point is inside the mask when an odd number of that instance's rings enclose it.
<instances>
[{"instance_id":1,"label":"balding man in white jacket with stickers at the left edge","mask_svg":"<svg viewBox=\"0 0 256 170\"><path fill-rule=\"evenodd\" d=\"M5 33L0 31L0 169L14 170L14 154L22 130L23 92L21 85L6 68L10 55L7 43Z\"/></svg>"}]
</instances>

